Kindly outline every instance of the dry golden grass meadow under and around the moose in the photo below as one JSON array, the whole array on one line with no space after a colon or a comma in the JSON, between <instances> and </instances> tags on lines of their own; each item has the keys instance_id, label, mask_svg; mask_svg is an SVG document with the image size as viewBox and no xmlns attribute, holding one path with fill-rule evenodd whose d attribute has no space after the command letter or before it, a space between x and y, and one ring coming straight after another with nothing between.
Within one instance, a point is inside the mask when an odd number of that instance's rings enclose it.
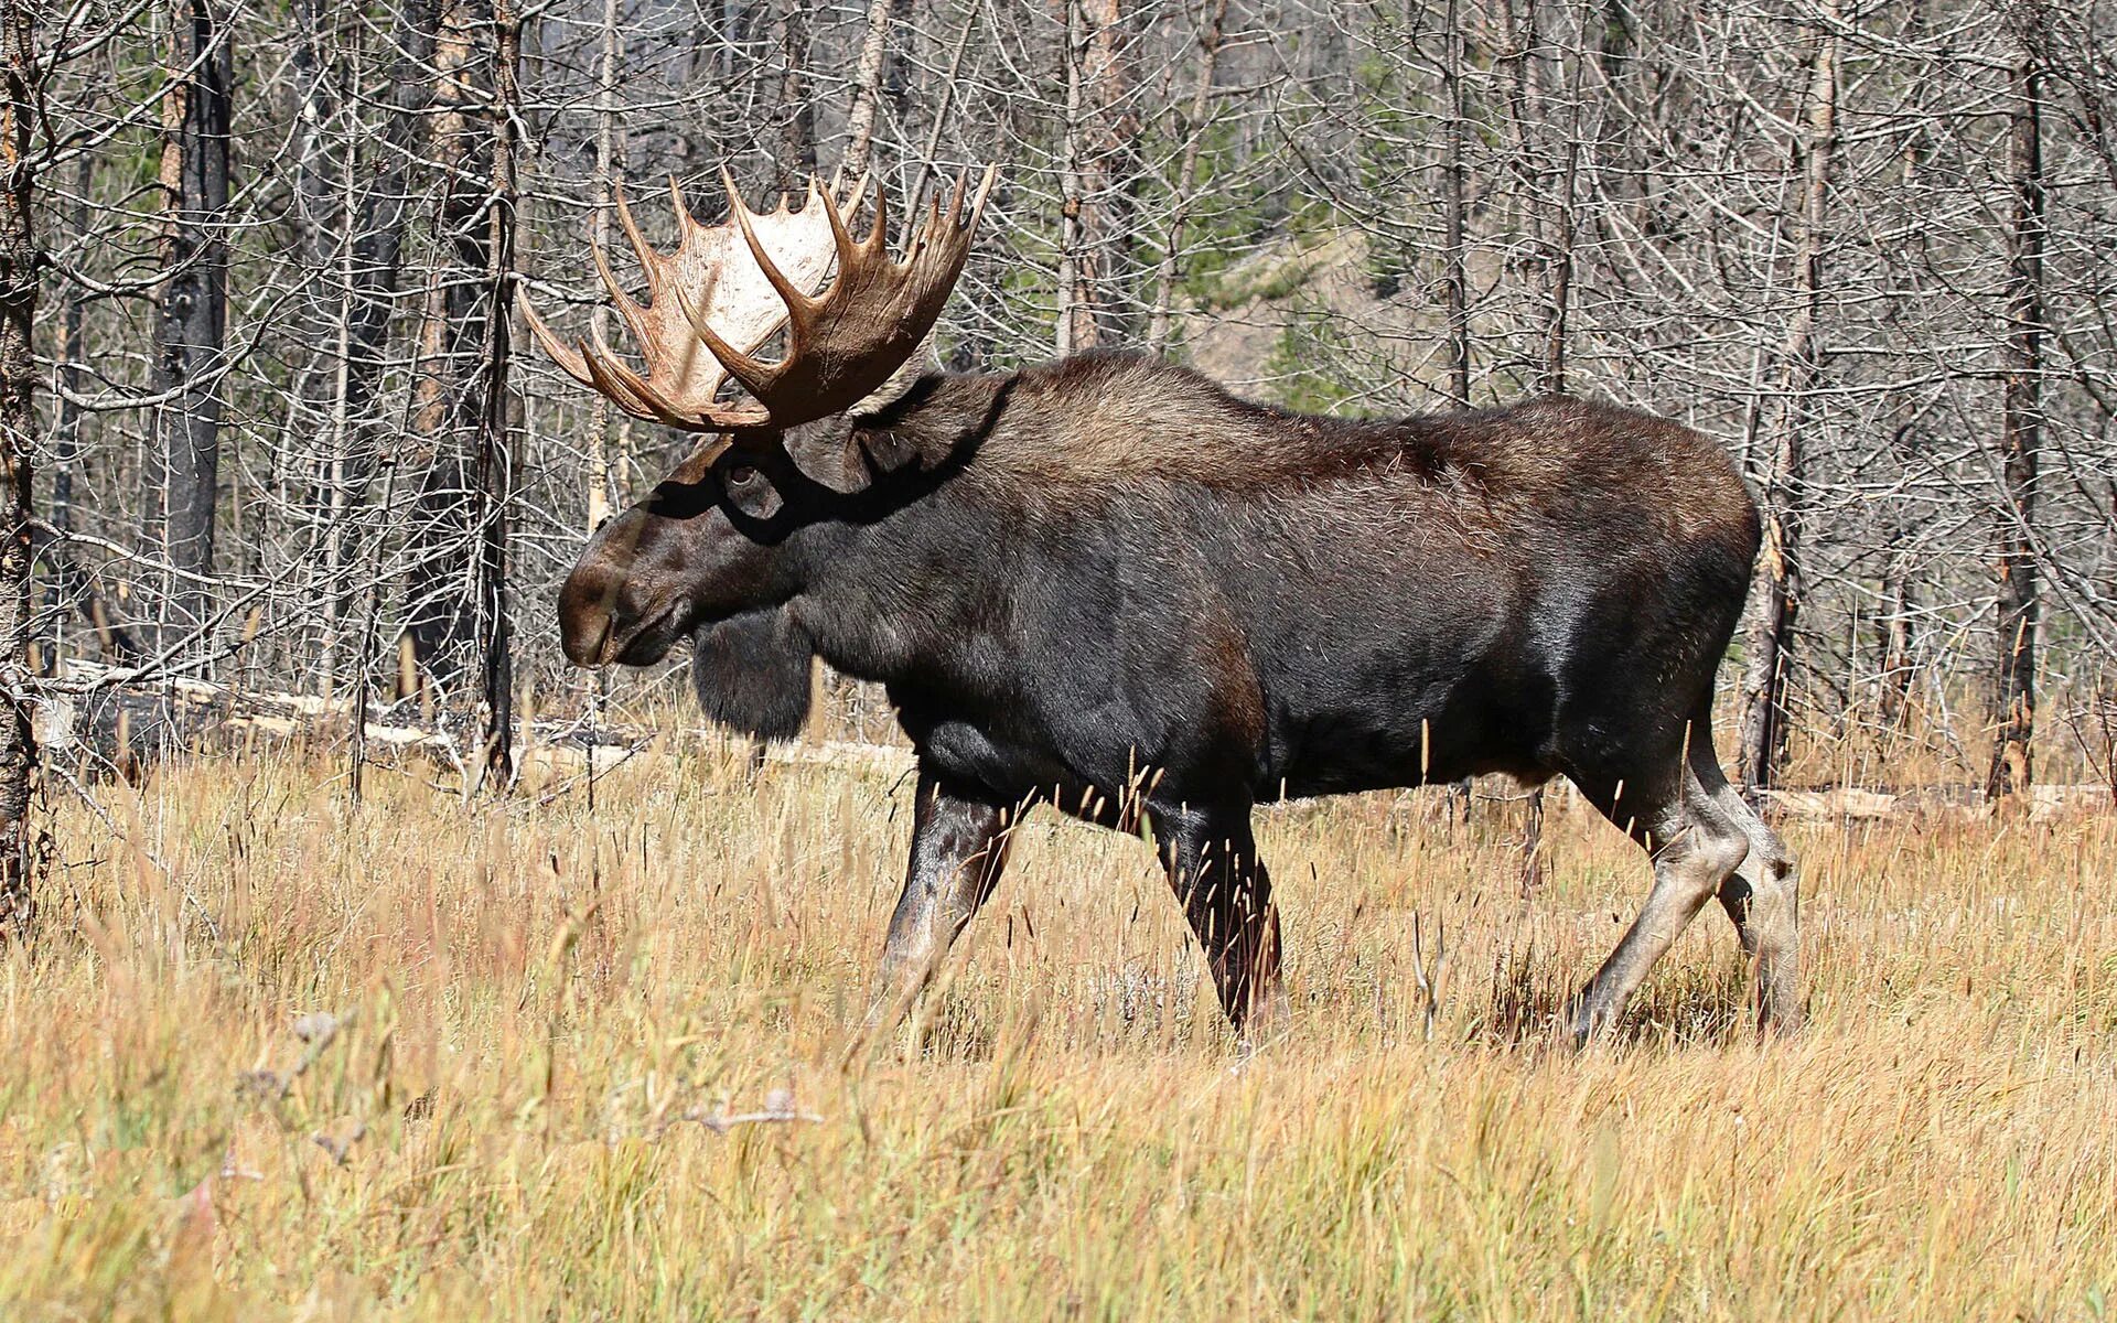
<instances>
[{"instance_id":1,"label":"dry golden grass meadow under and around the moose","mask_svg":"<svg viewBox=\"0 0 2117 1323\"><path fill-rule=\"evenodd\" d=\"M0 961L8 1319L2102 1319L2117 821L1797 828L1812 1025L1708 912L1622 1044L1548 1018L1643 895L1554 813L1272 815L1289 1033L1243 1058L1137 840L1037 817L840 1071L908 819L661 754L591 813L298 760L55 823ZM159 862L159 864L157 864ZM165 870L163 870L165 866ZM1446 923L1431 1041L1412 914ZM328 1012L305 1046L294 1018ZM790 1109L817 1120L722 1124ZM705 1124L713 1122L713 1124Z\"/></svg>"}]
</instances>

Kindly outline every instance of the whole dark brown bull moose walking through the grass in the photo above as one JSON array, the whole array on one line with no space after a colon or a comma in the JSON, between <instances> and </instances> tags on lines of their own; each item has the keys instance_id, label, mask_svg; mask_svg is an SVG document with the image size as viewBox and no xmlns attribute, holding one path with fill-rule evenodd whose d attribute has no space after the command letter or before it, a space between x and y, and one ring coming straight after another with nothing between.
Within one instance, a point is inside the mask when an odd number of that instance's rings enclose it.
<instances>
[{"instance_id":1,"label":"whole dark brown bull moose walking through the grass","mask_svg":"<svg viewBox=\"0 0 2117 1323\"><path fill-rule=\"evenodd\" d=\"M817 656L887 688L917 756L883 953L904 999L993 893L1010 826L1050 804L1152 832L1219 1005L1255 1033L1283 991L1253 809L1509 773L1569 777L1651 857L1569 1003L1575 1039L1715 895L1759 1022L1797 1027L1793 857L1713 751L1759 550L1730 457L1579 398L1353 421L1143 356L944 373L929 332L993 178L915 199L900 258L881 186L849 229L866 182L760 214L722 171L707 226L671 180L671 252L620 195L646 303L593 258L644 377L523 301L576 381L703 438L589 540L559 597L567 658L644 667L692 639L705 711L760 739L802 726Z\"/></svg>"}]
</instances>

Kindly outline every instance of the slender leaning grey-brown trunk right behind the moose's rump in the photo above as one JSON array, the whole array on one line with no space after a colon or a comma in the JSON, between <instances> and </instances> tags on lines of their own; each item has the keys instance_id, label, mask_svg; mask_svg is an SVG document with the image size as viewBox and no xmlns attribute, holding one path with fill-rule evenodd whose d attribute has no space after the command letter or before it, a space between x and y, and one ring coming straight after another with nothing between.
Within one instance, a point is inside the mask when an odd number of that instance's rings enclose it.
<instances>
[{"instance_id":1,"label":"slender leaning grey-brown trunk right behind the moose's rump","mask_svg":"<svg viewBox=\"0 0 2117 1323\"><path fill-rule=\"evenodd\" d=\"M1763 599L1749 633L1742 677L1738 777L1755 794L1770 790L1787 760L1787 677L1793 627L1802 608L1804 400L1816 385L1816 324L1823 311L1823 224L1831 157L1838 144L1838 4L1825 0L1808 64L1808 114L1802 129L1802 212L1795 218L1795 309L1780 347L1780 409L1763 474Z\"/></svg>"}]
</instances>

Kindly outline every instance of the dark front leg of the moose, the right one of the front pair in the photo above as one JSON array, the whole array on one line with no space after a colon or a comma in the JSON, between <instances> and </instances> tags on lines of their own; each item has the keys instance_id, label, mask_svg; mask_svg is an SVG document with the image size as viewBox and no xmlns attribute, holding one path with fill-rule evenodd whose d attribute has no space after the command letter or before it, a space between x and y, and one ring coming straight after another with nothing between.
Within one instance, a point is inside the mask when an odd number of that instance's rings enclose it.
<instances>
[{"instance_id":1,"label":"dark front leg of the moose, the right one of the front pair","mask_svg":"<svg viewBox=\"0 0 2117 1323\"><path fill-rule=\"evenodd\" d=\"M1279 1020L1285 1010L1279 908L1249 832L1249 809L1158 813L1154 832L1169 885L1205 948L1228 1022L1247 1035Z\"/></svg>"}]
</instances>

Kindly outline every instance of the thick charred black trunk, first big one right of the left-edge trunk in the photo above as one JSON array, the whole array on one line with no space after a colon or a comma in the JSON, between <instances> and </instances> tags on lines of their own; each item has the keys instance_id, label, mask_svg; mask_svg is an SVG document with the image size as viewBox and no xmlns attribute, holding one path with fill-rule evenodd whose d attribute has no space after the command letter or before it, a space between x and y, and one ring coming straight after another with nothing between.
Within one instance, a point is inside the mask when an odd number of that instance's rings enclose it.
<instances>
[{"instance_id":1,"label":"thick charred black trunk, first big one right of the left-edge trunk","mask_svg":"<svg viewBox=\"0 0 2117 1323\"><path fill-rule=\"evenodd\" d=\"M155 597L161 648L210 622L220 487L220 370L229 322L229 129L235 57L218 0L174 0L161 102L157 394L142 472L142 542L167 561ZM201 639L203 641L203 639Z\"/></svg>"}]
</instances>

